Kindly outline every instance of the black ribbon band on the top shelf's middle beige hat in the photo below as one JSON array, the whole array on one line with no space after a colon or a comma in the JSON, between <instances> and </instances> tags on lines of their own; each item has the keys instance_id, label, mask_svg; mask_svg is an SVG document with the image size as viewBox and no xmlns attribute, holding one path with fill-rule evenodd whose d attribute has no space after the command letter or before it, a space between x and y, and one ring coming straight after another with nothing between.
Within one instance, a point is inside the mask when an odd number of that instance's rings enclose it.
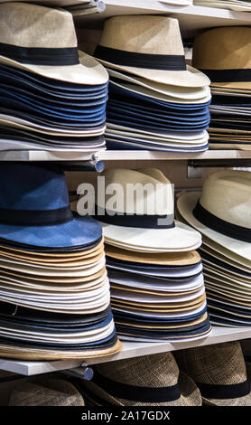
<instances>
[{"instance_id":1,"label":"black ribbon band on the top shelf's middle beige hat","mask_svg":"<svg viewBox=\"0 0 251 425\"><path fill-rule=\"evenodd\" d=\"M185 56L179 54L149 54L125 52L98 45L94 56L116 65L132 66L149 70L186 71Z\"/></svg>"}]
</instances>

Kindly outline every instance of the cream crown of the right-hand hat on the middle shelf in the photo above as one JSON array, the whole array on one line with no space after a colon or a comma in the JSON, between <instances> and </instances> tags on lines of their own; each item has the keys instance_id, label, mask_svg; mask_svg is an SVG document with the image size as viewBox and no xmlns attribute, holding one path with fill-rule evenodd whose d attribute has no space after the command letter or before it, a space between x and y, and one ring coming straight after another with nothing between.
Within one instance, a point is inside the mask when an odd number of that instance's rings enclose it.
<instances>
[{"instance_id":1,"label":"cream crown of the right-hand hat on the middle shelf","mask_svg":"<svg viewBox=\"0 0 251 425\"><path fill-rule=\"evenodd\" d=\"M251 229L251 173L229 170L210 175L200 205L225 222Z\"/></svg>"}]
</instances>

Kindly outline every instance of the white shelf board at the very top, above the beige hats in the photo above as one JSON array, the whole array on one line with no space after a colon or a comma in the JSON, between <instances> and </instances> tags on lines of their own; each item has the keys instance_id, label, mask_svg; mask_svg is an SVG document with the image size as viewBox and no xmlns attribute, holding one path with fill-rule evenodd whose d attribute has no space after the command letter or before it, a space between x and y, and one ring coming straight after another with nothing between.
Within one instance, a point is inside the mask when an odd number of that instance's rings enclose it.
<instances>
[{"instance_id":1,"label":"white shelf board at the very top, above the beige hats","mask_svg":"<svg viewBox=\"0 0 251 425\"><path fill-rule=\"evenodd\" d=\"M90 16L74 15L77 24L93 27L102 26L102 22L110 16L121 14L166 14L179 19L181 32L184 36L191 36L202 28L211 28L226 25L250 25L251 14L248 12L234 12L215 7L199 5L167 5L157 0L104 0L107 8L102 14Z\"/></svg>"}]
</instances>

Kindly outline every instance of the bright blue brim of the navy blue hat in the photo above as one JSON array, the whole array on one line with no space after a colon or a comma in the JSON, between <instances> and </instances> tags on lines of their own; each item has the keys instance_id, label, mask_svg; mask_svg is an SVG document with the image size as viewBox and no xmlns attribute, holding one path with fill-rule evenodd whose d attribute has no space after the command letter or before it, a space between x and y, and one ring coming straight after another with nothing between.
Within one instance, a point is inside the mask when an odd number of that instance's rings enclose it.
<instances>
[{"instance_id":1,"label":"bright blue brim of the navy blue hat","mask_svg":"<svg viewBox=\"0 0 251 425\"><path fill-rule=\"evenodd\" d=\"M0 238L23 245L50 248L88 246L102 237L100 223L91 217L51 226L14 226L0 223Z\"/></svg>"}]
</instances>

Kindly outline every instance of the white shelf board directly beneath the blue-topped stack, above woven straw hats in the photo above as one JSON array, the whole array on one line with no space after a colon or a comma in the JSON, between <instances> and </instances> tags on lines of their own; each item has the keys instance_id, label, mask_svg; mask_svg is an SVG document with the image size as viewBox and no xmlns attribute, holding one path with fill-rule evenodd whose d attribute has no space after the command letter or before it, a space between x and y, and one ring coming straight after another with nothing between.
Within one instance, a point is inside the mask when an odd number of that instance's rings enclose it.
<instances>
[{"instance_id":1,"label":"white shelf board directly beneath the blue-topped stack, above woven straw hats","mask_svg":"<svg viewBox=\"0 0 251 425\"><path fill-rule=\"evenodd\" d=\"M100 364L132 358L146 354L164 353L174 350L182 350L199 345L212 345L225 343L228 341L237 341L241 339L251 338L251 327L219 327L215 326L211 334L197 341L188 341L182 343L131 343L124 342L123 350L114 355L102 358L91 358L82 360L57 360L53 362L28 362L19 360L0 359L0 370L20 373L26 376L39 373L52 373L66 369L72 369L85 364Z\"/></svg>"}]
</instances>

